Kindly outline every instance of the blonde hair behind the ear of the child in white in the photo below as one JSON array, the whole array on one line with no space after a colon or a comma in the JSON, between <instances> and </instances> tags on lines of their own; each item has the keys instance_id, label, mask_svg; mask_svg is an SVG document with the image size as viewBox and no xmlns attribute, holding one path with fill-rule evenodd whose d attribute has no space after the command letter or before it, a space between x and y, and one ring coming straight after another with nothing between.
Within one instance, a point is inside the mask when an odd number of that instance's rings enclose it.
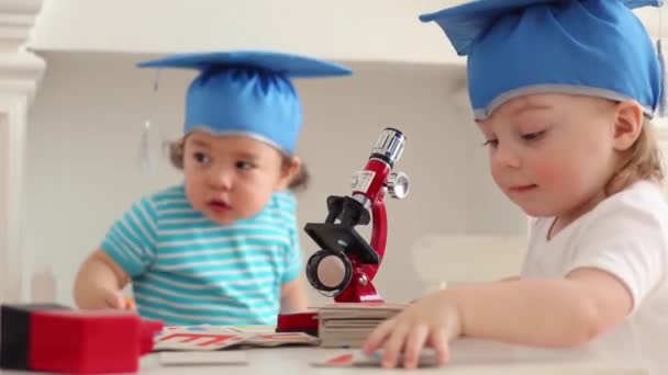
<instances>
[{"instance_id":1,"label":"blonde hair behind the ear of the child in white","mask_svg":"<svg viewBox=\"0 0 668 375\"><path fill-rule=\"evenodd\" d=\"M615 194L636 181L650 180L660 183L664 180L661 151L654 130L654 124L647 117L638 138L627 150L620 169L605 185L608 195Z\"/></svg>"}]
</instances>

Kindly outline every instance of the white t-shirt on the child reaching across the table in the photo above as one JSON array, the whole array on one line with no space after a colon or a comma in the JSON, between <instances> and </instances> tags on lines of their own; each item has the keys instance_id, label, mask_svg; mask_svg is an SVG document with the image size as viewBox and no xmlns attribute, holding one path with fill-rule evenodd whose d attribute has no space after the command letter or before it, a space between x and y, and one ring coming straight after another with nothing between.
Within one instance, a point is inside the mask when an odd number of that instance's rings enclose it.
<instances>
[{"instance_id":1,"label":"white t-shirt on the child reaching across the table","mask_svg":"<svg viewBox=\"0 0 668 375\"><path fill-rule=\"evenodd\" d=\"M522 277L564 277L579 268L615 275L633 296L633 311L581 349L668 374L668 205L659 186L637 182L547 240L553 221L532 221Z\"/></svg>"}]
</instances>

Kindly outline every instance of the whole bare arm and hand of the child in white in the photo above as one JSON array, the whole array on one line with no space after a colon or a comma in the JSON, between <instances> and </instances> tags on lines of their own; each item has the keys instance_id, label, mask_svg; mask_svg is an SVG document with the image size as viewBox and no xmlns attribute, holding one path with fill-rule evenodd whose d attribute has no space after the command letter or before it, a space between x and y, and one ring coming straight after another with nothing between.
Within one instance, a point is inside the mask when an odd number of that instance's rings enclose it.
<instances>
[{"instance_id":1,"label":"whole bare arm and hand of the child in white","mask_svg":"<svg viewBox=\"0 0 668 375\"><path fill-rule=\"evenodd\" d=\"M566 279L461 285L427 296L380 325L365 350L383 348L383 366L392 367L405 345L404 365L412 367L425 343L445 362L447 342L458 336L575 345L624 319L632 306L624 284L594 269L576 270Z\"/></svg>"}]
</instances>

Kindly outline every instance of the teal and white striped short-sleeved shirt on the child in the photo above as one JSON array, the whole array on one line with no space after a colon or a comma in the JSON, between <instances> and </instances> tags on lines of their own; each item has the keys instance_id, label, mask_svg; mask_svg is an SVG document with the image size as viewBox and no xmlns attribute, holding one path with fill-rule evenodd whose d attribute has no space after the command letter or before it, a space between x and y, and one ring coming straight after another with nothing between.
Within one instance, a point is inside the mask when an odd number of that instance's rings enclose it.
<instances>
[{"instance_id":1,"label":"teal and white striped short-sleeved shirt on the child","mask_svg":"<svg viewBox=\"0 0 668 375\"><path fill-rule=\"evenodd\" d=\"M135 203L102 249L132 277L142 316L170 326L275 325L281 285L301 272L296 206L278 192L257 215L220 225L178 185Z\"/></svg>"}]
</instances>

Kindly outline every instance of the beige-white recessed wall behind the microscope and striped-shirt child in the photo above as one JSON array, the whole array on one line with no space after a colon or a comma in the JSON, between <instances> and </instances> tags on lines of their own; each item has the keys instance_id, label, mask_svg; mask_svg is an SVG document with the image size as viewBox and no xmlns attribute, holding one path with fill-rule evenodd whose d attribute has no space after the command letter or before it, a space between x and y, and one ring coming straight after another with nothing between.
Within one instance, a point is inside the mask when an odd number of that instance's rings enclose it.
<instances>
[{"instance_id":1,"label":"beige-white recessed wall behind the microscope and striped-shirt child","mask_svg":"<svg viewBox=\"0 0 668 375\"><path fill-rule=\"evenodd\" d=\"M134 68L146 56L43 56L48 69L30 116L23 266L27 277L38 264L52 264L57 299L70 304L76 269L112 220L142 194L178 181L167 162L155 175L142 174L137 146L148 115L167 138L179 135L192 76L163 71L154 95L153 71ZM364 167L383 126L402 129L408 145L396 169L413 185L403 201L388 197L388 252L377 285L388 299L405 300L423 287L409 251L417 238L522 234L523 220L487 177L481 137L467 120L461 67L352 67L350 78L298 82L305 109L298 152L313 175L300 196L300 221L323 220L326 196L349 193L350 174ZM304 258L315 250L303 234L302 247Z\"/></svg>"}]
</instances>

